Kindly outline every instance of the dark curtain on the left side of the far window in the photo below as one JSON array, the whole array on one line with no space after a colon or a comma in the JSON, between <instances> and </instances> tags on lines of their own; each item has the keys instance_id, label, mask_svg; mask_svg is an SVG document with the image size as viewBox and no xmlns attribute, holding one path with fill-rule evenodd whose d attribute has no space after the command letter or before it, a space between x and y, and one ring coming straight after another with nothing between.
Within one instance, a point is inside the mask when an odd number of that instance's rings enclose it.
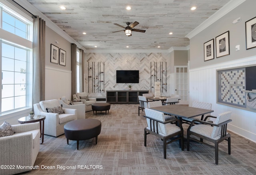
<instances>
[{"instance_id":1,"label":"dark curtain on the left side of the far window","mask_svg":"<svg viewBox=\"0 0 256 175\"><path fill-rule=\"evenodd\" d=\"M76 94L76 44L71 44L71 95Z\"/></svg>"}]
</instances>

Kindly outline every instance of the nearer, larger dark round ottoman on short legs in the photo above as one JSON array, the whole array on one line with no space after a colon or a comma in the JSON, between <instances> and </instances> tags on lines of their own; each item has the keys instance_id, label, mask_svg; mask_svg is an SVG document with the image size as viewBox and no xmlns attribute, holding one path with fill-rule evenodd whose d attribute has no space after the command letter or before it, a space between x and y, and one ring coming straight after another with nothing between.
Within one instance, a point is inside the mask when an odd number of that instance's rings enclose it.
<instances>
[{"instance_id":1,"label":"nearer, larger dark round ottoman on short legs","mask_svg":"<svg viewBox=\"0 0 256 175\"><path fill-rule=\"evenodd\" d=\"M64 134L67 138L67 143L68 140L76 140L77 149L79 147L79 140L87 140L95 137L97 144L100 131L100 120L91 118L73 120L64 125Z\"/></svg>"}]
</instances>

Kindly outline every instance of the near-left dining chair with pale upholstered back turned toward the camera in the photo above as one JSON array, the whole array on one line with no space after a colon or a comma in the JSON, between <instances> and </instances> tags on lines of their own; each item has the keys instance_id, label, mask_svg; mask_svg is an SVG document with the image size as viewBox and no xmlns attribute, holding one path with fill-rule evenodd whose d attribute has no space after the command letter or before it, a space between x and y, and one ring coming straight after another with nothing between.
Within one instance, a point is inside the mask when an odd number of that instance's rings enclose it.
<instances>
[{"instance_id":1,"label":"near-left dining chair with pale upholstered back turned toward the camera","mask_svg":"<svg viewBox=\"0 0 256 175\"><path fill-rule=\"evenodd\" d=\"M166 159L166 146L172 142L180 141L180 147L183 151L183 128L182 125L176 126L169 124L171 122L180 122L177 118L165 121L164 113L150 108L145 109L146 119L148 126L144 129L144 146L146 146L147 135L153 134L158 138L161 138L164 144L164 159ZM169 140L171 139L171 140Z\"/></svg>"}]
</instances>

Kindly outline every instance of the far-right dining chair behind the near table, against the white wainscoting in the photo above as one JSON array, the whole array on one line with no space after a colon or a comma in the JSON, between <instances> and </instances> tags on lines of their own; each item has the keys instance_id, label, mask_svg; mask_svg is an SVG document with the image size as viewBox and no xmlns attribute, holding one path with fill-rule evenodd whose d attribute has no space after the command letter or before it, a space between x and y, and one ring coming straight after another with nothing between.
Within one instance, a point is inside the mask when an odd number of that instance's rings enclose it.
<instances>
[{"instance_id":1,"label":"far-right dining chair behind the near table, against the white wainscoting","mask_svg":"<svg viewBox=\"0 0 256 175\"><path fill-rule=\"evenodd\" d=\"M192 103L191 107L211 110L212 109L212 104L207 103L207 102L194 101ZM210 115L211 115L211 113L204 114L204 116L210 116ZM193 120L204 120L204 118L202 118L202 116L196 116L196 117L193 117L193 118L182 118L182 123L190 124ZM205 121L206 122L212 122L212 120L210 120L208 118ZM194 122L194 124L198 124L198 122Z\"/></svg>"}]
</instances>

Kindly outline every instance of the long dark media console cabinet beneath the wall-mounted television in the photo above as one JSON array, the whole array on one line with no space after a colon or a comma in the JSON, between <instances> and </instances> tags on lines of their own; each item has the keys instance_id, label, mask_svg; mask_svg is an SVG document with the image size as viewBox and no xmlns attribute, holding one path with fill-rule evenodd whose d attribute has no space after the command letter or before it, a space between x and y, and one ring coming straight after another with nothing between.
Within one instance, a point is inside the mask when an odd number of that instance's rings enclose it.
<instances>
[{"instance_id":1,"label":"long dark media console cabinet beneath the wall-mounted television","mask_svg":"<svg viewBox=\"0 0 256 175\"><path fill-rule=\"evenodd\" d=\"M148 90L107 90L107 102L114 104L137 104L138 96Z\"/></svg>"}]
</instances>

